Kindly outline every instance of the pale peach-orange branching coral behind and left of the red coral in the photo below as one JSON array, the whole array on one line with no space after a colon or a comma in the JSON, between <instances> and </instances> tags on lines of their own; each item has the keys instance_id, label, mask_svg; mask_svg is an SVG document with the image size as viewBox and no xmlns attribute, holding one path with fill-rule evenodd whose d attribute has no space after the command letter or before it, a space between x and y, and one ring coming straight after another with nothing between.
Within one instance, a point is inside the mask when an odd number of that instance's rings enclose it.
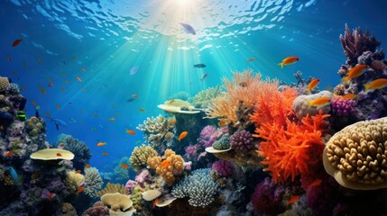
<instances>
[{"instance_id":1,"label":"pale peach-orange branching coral behind and left of the red coral","mask_svg":"<svg viewBox=\"0 0 387 216\"><path fill-rule=\"evenodd\" d=\"M220 118L226 124L234 123L239 128L250 125L248 114L253 111L255 95L272 92L277 89L278 82L261 79L261 74L253 75L252 70L233 73L234 78L223 78L226 94L212 100L206 111L207 118Z\"/></svg>"}]
</instances>

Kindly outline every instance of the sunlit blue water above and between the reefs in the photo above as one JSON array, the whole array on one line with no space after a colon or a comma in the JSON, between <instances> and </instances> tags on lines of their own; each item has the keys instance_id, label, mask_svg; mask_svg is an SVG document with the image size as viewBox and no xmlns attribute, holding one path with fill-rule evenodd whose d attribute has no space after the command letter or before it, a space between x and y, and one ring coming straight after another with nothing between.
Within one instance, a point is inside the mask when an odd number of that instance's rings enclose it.
<instances>
[{"instance_id":1,"label":"sunlit blue water above and between the reefs","mask_svg":"<svg viewBox=\"0 0 387 216\"><path fill-rule=\"evenodd\" d=\"M346 61L338 36L345 23L387 41L386 10L382 0L3 0L0 75L25 89L28 116L34 115L33 100L43 117L48 112L67 122L56 130L47 121L50 143L60 133L71 134L91 148L92 166L111 172L143 141L135 127L162 113L157 104L180 91L194 95L220 85L231 71L250 67L290 83L300 70L305 78L321 78L320 89L338 84L336 72ZM191 24L197 34L180 23ZM277 65L293 55L300 58L297 64ZM255 60L246 63L248 58ZM207 67L193 67L198 63ZM138 72L130 76L133 67ZM127 102L132 94L138 97ZM107 145L97 148L98 141Z\"/></svg>"}]
</instances>

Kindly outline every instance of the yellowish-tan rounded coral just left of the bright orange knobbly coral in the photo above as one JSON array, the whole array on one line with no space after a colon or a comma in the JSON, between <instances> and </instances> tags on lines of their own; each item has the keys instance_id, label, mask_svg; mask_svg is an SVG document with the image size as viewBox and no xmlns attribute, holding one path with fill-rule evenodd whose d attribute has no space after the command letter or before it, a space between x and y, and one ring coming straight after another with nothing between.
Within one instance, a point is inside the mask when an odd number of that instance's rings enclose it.
<instances>
[{"instance_id":1,"label":"yellowish-tan rounded coral just left of the bright orange knobbly coral","mask_svg":"<svg viewBox=\"0 0 387 216\"><path fill-rule=\"evenodd\" d=\"M145 146L143 144L140 147L134 148L132 156L129 158L129 161L135 171L140 171L146 166L148 166L147 162L149 157L156 156L157 152L152 147Z\"/></svg>"}]
</instances>

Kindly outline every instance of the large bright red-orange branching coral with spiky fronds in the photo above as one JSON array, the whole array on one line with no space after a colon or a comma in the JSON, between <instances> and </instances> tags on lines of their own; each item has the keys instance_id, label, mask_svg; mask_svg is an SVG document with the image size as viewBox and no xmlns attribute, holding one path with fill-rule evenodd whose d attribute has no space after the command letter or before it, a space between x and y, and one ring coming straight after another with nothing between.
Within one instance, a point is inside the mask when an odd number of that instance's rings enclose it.
<instances>
[{"instance_id":1,"label":"large bright red-orange branching coral with spiky fronds","mask_svg":"<svg viewBox=\"0 0 387 216\"><path fill-rule=\"evenodd\" d=\"M257 152L264 157L265 171L270 171L275 183L294 181L298 175L310 175L312 166L318 165L324 148L322 130L327 114L290 121L294 115L292 101L294 89L272 91L257 95L251 115L256 129L254 137L262 138Z\"/></svg>"}]
</instances>

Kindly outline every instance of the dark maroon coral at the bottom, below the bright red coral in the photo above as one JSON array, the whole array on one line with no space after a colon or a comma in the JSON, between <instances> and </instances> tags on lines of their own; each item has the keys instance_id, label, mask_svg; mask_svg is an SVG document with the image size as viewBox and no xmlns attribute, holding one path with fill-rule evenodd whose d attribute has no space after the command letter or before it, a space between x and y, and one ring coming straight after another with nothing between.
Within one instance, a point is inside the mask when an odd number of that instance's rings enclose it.
<instances>
[{"instance_id":1,"label":"dark maroon coral at the bottom, below the bright red coral","mask_svg":"<svg viewBox=\"0 0 387 216\"><path fill-rule=\"evenodd\" d=\"M266 177L263 182L255 186L252 194L253 210L260 215L277 215L285 211L283 196L285 187L274 184L271 178Z\"/></svg>"}]
</instances>

